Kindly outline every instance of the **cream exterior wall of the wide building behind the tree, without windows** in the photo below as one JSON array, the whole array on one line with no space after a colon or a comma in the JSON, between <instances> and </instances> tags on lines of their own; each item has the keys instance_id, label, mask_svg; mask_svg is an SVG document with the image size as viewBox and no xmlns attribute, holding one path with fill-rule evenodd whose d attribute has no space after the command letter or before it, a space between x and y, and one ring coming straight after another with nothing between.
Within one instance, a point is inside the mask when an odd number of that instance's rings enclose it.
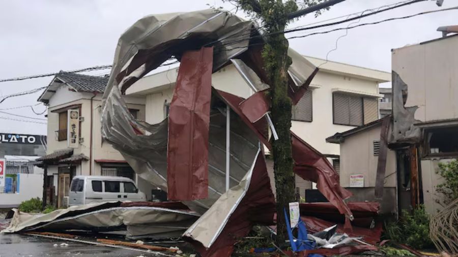
<instances>
[{"instance_id":1,"label":"cream exterior wall of the wide building behind the tree, without windows","mask_svg":"<svg viewBox=\"0 0 458 257\"><path fill-rule=\"evenodd\" d=\"M178 69L146 77L127 90L132 95L146 94L146 121L153 124L164 119L164 102L170 103ZM159 84L166 83L166 84ZM226 66L212 75L216 89L248 98L253 91L233 65ZM324 154L339 154L339 146L326 143L326 138L354 126L333 124L332 92L335 89L350 90L361 94L378 94L378 82L361 77L349 77L319 72L311 82L312 122L292 121L292 131Z\"/></svg>"}]
</instances>

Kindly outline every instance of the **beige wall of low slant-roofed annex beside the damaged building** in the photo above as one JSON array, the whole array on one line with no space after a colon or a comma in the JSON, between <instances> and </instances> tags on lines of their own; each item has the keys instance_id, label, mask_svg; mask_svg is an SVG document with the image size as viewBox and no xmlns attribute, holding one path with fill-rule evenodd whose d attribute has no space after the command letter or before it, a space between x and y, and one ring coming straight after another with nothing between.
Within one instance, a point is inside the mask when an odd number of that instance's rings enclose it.
<instances>
[{"instance_id":1,"label":"beige wall of low slant-roofed annex beside the damaged building","mask_svg":"<svg viewBox=\"0 0 458 257\"><path fill-rule=\"evenodd\" d=\"M347 137L340 143L340 185L350 186L350 175L364 175L364 187L374 187L378 156L374 156L373 142L380 140L381 126ZM396 154L388 149L385 187L396 186Z\"/></svg>"}]
</instances>

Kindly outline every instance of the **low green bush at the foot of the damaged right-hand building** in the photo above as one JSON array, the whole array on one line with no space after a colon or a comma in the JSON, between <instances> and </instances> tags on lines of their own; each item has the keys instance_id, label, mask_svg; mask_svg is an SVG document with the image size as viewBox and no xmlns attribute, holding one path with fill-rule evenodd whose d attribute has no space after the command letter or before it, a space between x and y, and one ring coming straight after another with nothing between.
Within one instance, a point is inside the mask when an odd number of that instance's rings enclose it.
<instances>
[{"instance_id":1,"label":"low green bush at the foot of the damaged right-hand building","mask_svg":"<svg viewBox=\"0 0 458 257\"><path fill-rule=\"evenodd\" d=\"M430 238L430 216L420 205L412 213L403 210L402 218L385 226L385 235L396 243L423 249L434 246Z\"/></svg>"}]
</instances>

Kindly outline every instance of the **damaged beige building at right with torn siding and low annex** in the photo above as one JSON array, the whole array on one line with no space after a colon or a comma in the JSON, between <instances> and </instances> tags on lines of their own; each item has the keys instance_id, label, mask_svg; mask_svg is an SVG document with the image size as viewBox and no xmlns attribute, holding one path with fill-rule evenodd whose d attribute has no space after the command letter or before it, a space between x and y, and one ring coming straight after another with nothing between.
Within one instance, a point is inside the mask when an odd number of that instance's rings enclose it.
<instances>
[{"instance_id":1,"label":"damaged beige building at right with torn siding and low annex","mask_svg":"<svg viewBox=\"0 0 458 257\"><path fill-rule=\"evenodd\" d=\"M455 31L458 33L458 31ZM377 173L384 177L383 205L393 212L424 204L441 209L439 163L458 157L458 34L393 49L392 117L386 162L378 167L384 147L382 120L335 134L340 144L340 183L352 186L358 200L373 200ZM382 177L382 178L383 178Z\"/></svg>"}]
</instances>

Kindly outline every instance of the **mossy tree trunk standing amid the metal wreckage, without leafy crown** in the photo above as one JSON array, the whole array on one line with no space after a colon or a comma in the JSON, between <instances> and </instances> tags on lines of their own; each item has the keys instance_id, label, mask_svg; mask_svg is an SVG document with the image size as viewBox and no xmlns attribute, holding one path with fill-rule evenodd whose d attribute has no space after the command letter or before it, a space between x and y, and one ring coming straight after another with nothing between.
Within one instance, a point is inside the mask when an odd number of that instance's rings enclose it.
<instances>
[{"instance_id":1,"label":"mossy tree trunk standing amid the metal wreckage, without leafy crown","mask_svg":"<svg viewBox=\"0 0 458 257\"><path fill-rule=\"evenodd\" d=\"M284 26L277 25L275 30L284 31ZM288 97L288 67L291 65L291 58L288 56L288 41L285 40L284 34L267 38L263 59L265 61L264 69L271 81L272 121L278 134L278 140L272 143L272 155L277 198L276 242L280 246L287 238L283 210L288 210L288 203L295 201L290 133L292 101Z\"/></svg>"}]
</instances>

